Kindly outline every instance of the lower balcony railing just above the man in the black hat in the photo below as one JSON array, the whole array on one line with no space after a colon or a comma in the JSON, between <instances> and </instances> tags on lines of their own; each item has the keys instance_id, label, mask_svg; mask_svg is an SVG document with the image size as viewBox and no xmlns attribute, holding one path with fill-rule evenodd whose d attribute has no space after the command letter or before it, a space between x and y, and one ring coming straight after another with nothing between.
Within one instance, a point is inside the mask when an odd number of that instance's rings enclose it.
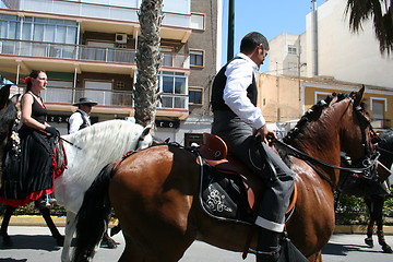
<instances>
[{"instance_id":1,"label":"lower balcony railing just above the man in the black hat","mask_svg":"<svg viewBox=\"0 0 393 262\"><path fill-rule=\"evenodd\" d=\"M79 98L88 96L97 102L99 106L133 106L133 95L131 92L127 91L80 90L48 86L48 88L41 93L41 96L46 103L74 104ZM188 109L187 95L164 94L162 98L163 102L158 104L158 108Z\"/></svg>"}]
</instances>

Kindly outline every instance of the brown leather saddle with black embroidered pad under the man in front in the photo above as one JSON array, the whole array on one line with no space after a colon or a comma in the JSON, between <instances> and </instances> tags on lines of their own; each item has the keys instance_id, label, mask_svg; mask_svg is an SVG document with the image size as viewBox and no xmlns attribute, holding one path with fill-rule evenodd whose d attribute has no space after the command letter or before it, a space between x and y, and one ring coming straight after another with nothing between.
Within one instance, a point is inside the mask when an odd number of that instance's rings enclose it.
<instances>
[{"instance_id":1,"label":"brown leather saddle with black embroidered pad under the man in front","mask_svg":"<svg viewBox=\"0 0 393 262\"><path fill-rule=\"evenodd\" d=\"M217 135L204 133L198 151L203 159L200 195L206 213L253 224L264 191L259 176L228 155L226 143ZM288 211L293 210L296 198L295 184Z\"/></svg>"}]
</instances>

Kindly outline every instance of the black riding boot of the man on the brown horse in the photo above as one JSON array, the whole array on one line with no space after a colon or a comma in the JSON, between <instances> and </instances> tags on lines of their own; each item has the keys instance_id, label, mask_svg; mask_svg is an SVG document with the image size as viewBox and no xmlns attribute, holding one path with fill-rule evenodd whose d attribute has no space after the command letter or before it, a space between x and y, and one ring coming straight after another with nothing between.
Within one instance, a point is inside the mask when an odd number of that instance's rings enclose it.
<instances>
[{"instance_id":1,"label":"black riding boot of the man on the brown horse","mask_svg":"<svg viewBox=\"0 0 393 262\"><path fill-rule=\"evenodd\" d=\"M257 262L275 262L279 258L279 238L282 233L259 227Z\"/></svg>"}]
</instances>

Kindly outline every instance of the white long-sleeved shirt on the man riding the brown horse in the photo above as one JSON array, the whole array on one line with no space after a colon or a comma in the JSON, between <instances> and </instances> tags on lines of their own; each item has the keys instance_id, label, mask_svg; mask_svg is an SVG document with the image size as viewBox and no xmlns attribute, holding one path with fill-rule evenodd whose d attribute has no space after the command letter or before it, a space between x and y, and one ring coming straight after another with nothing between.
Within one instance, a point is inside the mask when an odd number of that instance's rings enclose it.
<instances>
[{"instance_id":1,"label":"white long-sleeved shirt on the man riding the brown horse","mask_svg":"<svg viewBox=\"0 0 393 262\"><path fill-rule=\"evenodd\" d=\"M265 124L261 109L255 107L247 96L247 88L252 84L252 76L257 81L257 72L259 70L249 57L239 52L237 57L243 59L234 59L226 68L227 76L224 88L225 104L245 122L251 124L255 130Z\"/></svg>"}]
</instances>

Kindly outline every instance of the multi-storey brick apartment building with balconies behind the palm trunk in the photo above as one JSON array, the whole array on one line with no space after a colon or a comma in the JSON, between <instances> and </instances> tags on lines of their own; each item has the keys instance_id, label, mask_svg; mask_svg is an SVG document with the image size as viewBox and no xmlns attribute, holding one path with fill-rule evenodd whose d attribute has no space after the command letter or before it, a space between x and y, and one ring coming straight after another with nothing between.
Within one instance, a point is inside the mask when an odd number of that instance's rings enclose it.
<instances>
[{"instance_id":1,"label":"multi-storey brick apartment building with balconies behind the palm trunk","mask_svg":"<svg viewBox=\"0 0 393 262\"><path fill-rule=\"evenodd\" d=\"M34 69L48 74L48 121L64 134L82 96L92 120L133 117L142 0L2 0L0 74L17 87ZM209 92L221 56L222 1L164 0L156 112L159 139L210 130Z\"/></svg>"}]
</instances>

